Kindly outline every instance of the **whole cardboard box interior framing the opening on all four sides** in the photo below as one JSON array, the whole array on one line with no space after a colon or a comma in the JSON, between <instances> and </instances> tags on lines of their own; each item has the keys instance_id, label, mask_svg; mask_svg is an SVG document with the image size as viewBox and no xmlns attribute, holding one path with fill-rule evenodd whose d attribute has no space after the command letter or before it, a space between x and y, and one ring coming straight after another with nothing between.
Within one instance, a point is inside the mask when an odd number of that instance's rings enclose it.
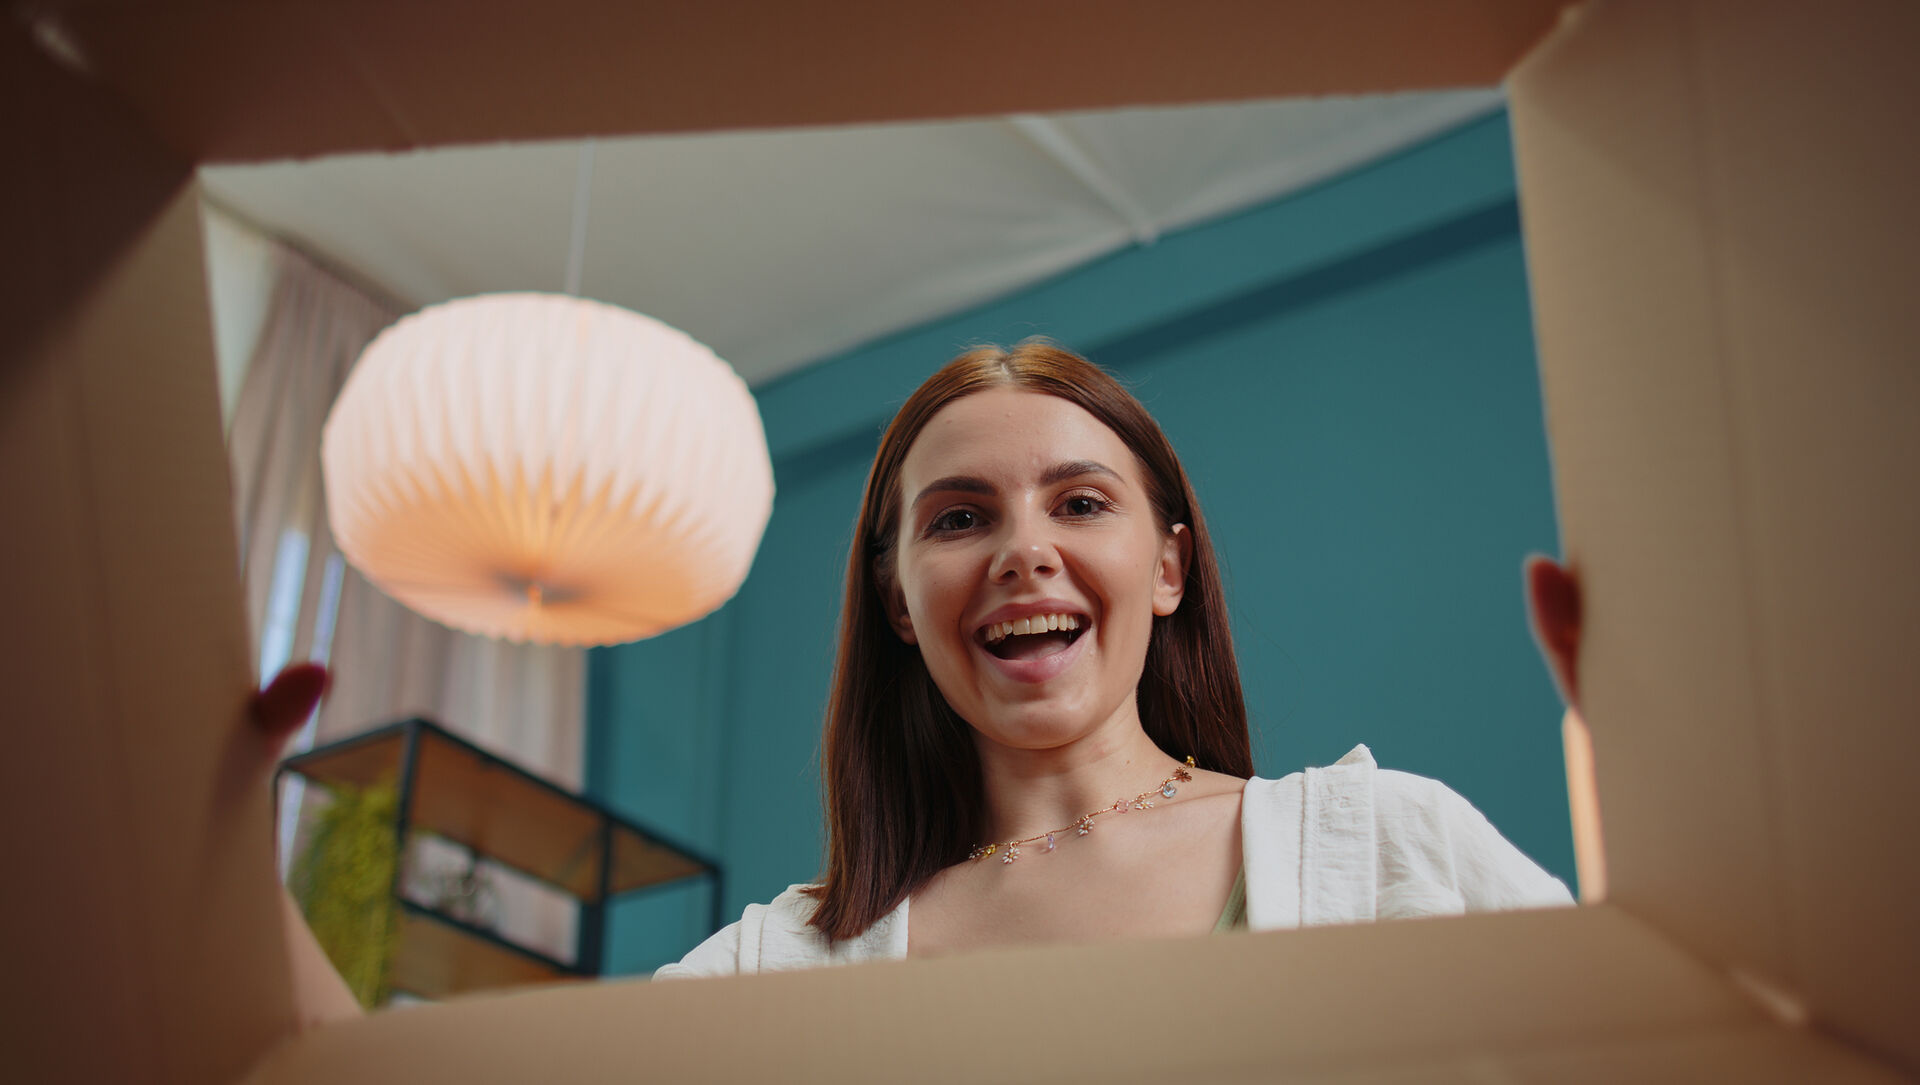
<instances>
[{"instance_id":1,"label":"whole cardboard box interior framing the opening on all four sides","mask_svg":"<svg viewBox=\"0 0 1920 1085\"><path fill-rule=\"evenodd\" d=\"M1599 0L1530 52L1553 4L522 8L38 4L0 27L10 1075L1920 1072L1916 8ZM1609 904L301 1027L324 1004L288 964L244 718L194 161L1509 67Z\"/></svg>"}]
</instances>

